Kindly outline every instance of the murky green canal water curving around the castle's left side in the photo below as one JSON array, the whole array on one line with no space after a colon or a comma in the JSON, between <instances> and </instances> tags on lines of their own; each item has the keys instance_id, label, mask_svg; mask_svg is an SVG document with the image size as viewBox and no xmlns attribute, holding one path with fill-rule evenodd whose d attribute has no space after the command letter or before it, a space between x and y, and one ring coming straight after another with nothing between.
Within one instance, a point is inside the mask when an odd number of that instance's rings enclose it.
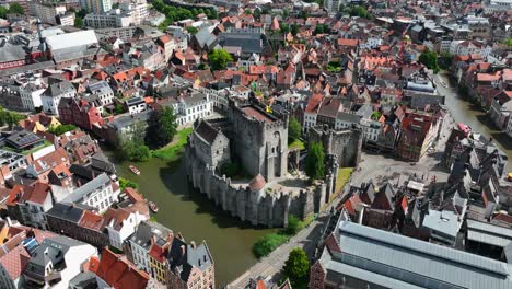
<instances>
[{"instance_id":1,"label":"murky green canal water curving around the castle's left side","mask_svg":"<svg viewBox=\"0 0 512 289\"><path fill-rule=\"evenodd\" d=\"M117 162L112 152L105 149L116 164L117 174L139 184L139 190L148 199L156 203L156 221L174 232L181 232L187 242L206 240L216 262L216 284L221 288L242 275L257 259L252 246L272 229L256 228L231 217L210 201L206 195L195 192L188 184L179 164L152 159L146 163L133 163L141 172L132 174L128 162Z\"/></svg>"}]
</instances>

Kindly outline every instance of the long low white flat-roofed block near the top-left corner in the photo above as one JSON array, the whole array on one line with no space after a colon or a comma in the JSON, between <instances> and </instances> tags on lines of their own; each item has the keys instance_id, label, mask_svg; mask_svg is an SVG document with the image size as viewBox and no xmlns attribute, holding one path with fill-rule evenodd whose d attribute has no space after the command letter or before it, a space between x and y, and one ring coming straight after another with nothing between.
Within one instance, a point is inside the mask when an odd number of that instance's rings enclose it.
<instances>
[{"instance_id":1,"label":"long low white flat-roofed block near the top-left corner","mask_svg":"<svg viewBox=\"0 0 512 289\"><path fill-rule=\"evenodd\" d=\"M110 10L108 13L89 13L83 19L83 24L93 28L128 27L132 23L131 15L120 9Z\"/></svg>"}]
</instances>

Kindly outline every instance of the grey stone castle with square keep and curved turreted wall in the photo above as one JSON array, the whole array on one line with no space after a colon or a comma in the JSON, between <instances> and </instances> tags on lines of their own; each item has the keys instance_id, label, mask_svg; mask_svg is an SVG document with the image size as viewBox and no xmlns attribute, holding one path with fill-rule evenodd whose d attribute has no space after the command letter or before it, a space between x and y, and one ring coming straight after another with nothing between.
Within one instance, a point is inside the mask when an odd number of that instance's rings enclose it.
<instances>
[{"instance_id":1,"label":"grey stone castle with square keep and curved turreted wall","mask_svg":"<svg viewBox=\"0 0 512 289\"><path fill-rule=\"evenodd\" d=\"M300 192L276 192L267 182L288 175L288 115L269 113L259 103L230 100L226 117L197 120L183 158L193 186L223 210L253 224L284 227L289 213L300 218L318 212L336 187L337 153L327 158L324 182ZM240 162L254 176L233 184L221 175L228 162Z\"/></svg>"}]
</instances>

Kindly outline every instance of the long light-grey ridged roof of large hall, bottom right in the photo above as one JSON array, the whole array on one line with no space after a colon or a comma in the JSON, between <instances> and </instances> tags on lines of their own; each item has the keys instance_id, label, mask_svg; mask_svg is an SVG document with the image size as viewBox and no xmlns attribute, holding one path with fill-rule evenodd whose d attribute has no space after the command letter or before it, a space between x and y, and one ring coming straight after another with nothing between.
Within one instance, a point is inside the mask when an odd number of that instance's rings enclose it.
<instances>
[{"instance_id":1,"label":"long light-grey ridged roof of large hall, bottom right","mask_svg":"<svg viewBox=\"0 0 512 289\"><path fill-rule=\"evenodd\" d=\"M348 221L338 230L342 253L323 262L331 270L339 265L360 269L358 278L371 282L377 275L380 284L410 285L399 288L512 288L511 264Z\"/></svg>"}]
</instances>

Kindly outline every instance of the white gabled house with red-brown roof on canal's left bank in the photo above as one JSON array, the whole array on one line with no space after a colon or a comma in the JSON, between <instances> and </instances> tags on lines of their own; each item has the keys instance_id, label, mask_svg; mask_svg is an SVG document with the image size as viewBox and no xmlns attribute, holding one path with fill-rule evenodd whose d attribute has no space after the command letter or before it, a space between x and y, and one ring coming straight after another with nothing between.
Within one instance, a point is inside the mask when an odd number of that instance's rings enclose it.
<instances>
[{"instance_id":1,"label":"white gabled house with red-brown roof on canal's left bank","mask_svg":"<svg viewBox=\"0 0 512 289\"><path fill-rule=\"evenodd\" d=\"M109 208L105 212L105 219L109 219L105 228L108 231L110 245L123 251L125 240L133 234L137 226L142 221L147 221L148 217L129 208Z\"/></svg>"}]
</instances>

